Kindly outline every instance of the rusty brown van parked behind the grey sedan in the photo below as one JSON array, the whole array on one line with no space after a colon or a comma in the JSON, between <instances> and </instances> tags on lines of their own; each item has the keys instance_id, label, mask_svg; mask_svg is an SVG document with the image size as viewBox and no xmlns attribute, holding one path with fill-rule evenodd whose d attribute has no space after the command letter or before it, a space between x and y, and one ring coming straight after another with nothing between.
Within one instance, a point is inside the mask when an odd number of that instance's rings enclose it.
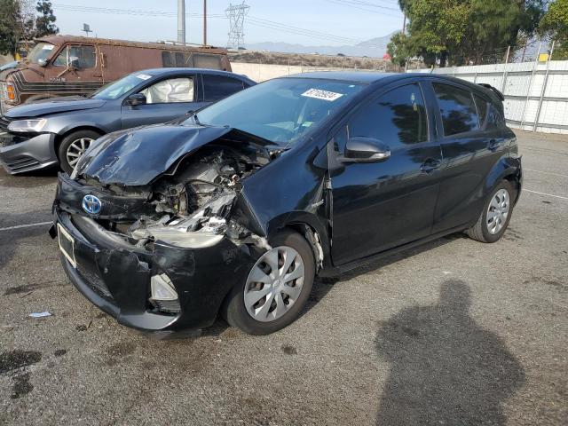
<instances>
[{"instance_id":1,"label":"rusty brown van parked behind the grey sedan","mask_svg":"<svg viewBox=\"0 0 568 426\"><path fill-rule=\"evenodd\" d=\"M0 71L0 112L39 99L87 95L123 75L158 67L231 71L225 49L48 36L36 40L28 58Z\"/></svg>"}]
</instances>

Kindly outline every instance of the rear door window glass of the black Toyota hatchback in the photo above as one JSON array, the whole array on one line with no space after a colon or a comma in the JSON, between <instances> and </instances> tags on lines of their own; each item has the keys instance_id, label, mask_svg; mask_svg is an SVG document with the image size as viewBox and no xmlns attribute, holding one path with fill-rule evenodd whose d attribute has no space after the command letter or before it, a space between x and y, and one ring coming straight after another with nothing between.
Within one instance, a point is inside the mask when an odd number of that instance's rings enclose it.
<instances>
[{"instance_id":1,"label":"rear door window glass of the black Toyota hatchback","mask_svg":"<svg viewBox=\"0 0 568 426\"><path fill-rule=\"evenodd\" d=\"M479 129L477 109L469 91L442 83L433 86L446 136Z\"/></svg>"}]
</instances>

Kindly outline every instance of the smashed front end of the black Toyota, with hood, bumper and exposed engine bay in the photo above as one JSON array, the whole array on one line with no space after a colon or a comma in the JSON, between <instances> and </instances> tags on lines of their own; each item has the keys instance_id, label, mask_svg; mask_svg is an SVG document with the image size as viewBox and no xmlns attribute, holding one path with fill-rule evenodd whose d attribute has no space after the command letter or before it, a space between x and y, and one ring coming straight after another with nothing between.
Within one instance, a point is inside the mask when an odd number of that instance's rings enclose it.
<instances>
[{"instance_id":1,"label":"smashed front end of the black Toyota, with hood, bumper and exposed engine bay","mask_svg":"<svg viewBox=\"0 0 568 426\"><path fill-rule=\"evenodd\" d=\"M59 176L62 261L75 287L124 325L207 327L269 248L242 185L280 153L239 130L206 129L204 138L195 128L174 130L173 161L163 151L137 154L164 127L102 138L73 177Z\"/></svg>"}]
</instances>

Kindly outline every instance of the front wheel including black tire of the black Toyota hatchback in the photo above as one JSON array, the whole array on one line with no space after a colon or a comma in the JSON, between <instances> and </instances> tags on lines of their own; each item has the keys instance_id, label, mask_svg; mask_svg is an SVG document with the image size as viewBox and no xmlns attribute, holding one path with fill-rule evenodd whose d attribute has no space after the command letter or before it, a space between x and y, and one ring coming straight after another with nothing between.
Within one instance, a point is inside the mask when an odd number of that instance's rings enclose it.
<instances>
[{"instance_id":1,"label":"front wheel including black tire of the black Toyota hatchback","mask_svg":"<svg viewBox=\"0 0 568 426\"><path fill-rule=\"evenodd\" d=\"M315 261L312 248L308 241L299 233L284 231L272 238L270 244L272 250L259 256L256 264L252 266L248 273L247 279L234 286L229 296L225 299L224 309L222 311L229 325L241 328L242 331L250 335L268 335L281 328L287 327L298 318L312 292L315 276ZM277 257L274 257L274 252L278 253ZM296 253L300 259L298 259L296 255L293 255L295 257L288 271L283 271L285 266L283 264L285 260L284 256L288 256L289 259L292 259L290 254L293 253ZM268 258L271 258L271 261L264 262L264 259ZM270 283L253 281L256 276L259 279L266 279L272 275L270 263L272 263L274 258L278 258L278 271L276 272L278 278L276 280L268 280ZM300 260L303 263L303 270ZM257 274L258 270L260 270L260 275ZM296 280L285 281L284 278L281 278L300 275L302 271L304 272L303 280L298 278ZM294 272L296 272L296 274L294 274ZM276 291L272 289L274 286L277 286ZM296 289L298 287L299 289ZM265 294L265 291L268 290L270 290L270 293L261 298L255 308L254 305L251 304L251 300L254 301L258 298L255 292L258 291L259 294ZM296 292L297 294L294 296ZM248 299L246 295L249 295ZM280 297L278 295L280 295ZM248 302L249 308L247 308L246 301ZM269 302L270 305L268 304ZM266 308L266 306L269 307ZM251 312L256 311L258 314L254 317ZM281 316L279 317L278 315Z\"/></svg>"}]
</instances>

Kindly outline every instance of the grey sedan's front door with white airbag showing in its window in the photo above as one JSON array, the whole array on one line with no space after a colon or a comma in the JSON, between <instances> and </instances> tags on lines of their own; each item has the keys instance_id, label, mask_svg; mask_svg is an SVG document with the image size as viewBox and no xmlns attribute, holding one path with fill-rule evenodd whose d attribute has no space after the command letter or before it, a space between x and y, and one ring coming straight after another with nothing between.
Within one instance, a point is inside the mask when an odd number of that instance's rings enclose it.
<instances>
[{"instance_id":1,"label":"grey sedan's front door with white airbag showing in its window","mask_svg":"<svg viewBox=\"0 0 568 426\"><path fill-rule=\"evenodd\" d=\"M178 75L149 84L139 91L146 96L146 105L122 103L122 129L169 122L198 109L202 105L198 81L196 75Z\"/></svg>"}]
</instances>

